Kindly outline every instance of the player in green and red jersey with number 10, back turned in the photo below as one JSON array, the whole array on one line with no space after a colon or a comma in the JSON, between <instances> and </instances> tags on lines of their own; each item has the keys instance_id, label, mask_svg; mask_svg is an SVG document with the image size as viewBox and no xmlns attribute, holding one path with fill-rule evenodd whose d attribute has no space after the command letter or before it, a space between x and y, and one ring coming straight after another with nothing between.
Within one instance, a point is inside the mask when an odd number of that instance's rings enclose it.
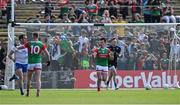
<instances>
[{"instance_id":1,"label":"player in green and red jersey with number 10, back turned","mask_svg":"<svg viewBox=\"0 0 180 105\"><path fill-rule=\"evenodd\" d=\"M29 41L24 44L23 47L28 49L28 78L27 78L27 93L29 96L30 82L32 74L35 72L36 80L36 96L39 97L41 89L41 70L42 70L42 57L41 54L44 51L48 55L47 66L50 65L50 55L46 48L46 45L38 40L39 34L33 33L33 41ZM21 49L19 47L18 49Z\"/></svg>"}]
</instances>

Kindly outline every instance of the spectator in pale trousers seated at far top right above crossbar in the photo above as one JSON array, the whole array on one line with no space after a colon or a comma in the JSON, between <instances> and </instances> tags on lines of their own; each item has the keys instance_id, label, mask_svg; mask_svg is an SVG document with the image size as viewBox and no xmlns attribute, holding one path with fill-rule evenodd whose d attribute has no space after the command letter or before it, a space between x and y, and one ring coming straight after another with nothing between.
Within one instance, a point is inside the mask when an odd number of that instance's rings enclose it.
<instances>
[{"instance_id":1,"label":"spectator in pale trousers seated at far top right above crossbar","mask_svg":"<svg viewBox=\"0 0 180 105\"><path fill-rule=\"evenodd\" d=\"M174 9L172 8L169 2L169 0L166 0L166 4L163 4L161 21L165 20L166 23L176 23Z\"/></svg>"}]
</instances>

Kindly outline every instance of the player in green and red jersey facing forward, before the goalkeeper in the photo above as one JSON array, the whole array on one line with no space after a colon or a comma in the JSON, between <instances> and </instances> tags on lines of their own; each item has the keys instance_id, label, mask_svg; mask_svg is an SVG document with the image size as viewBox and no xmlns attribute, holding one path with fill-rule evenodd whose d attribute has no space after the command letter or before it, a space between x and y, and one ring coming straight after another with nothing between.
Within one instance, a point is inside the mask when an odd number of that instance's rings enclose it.
<instances>
[{"instance_id":1,"label":"player in green and red jersey facing forward, before the goalkeeper","mask_svg":"<svg viewBox=\"0 0 180 105\"><path fill-rule=\"evenodd\" d=\"M113 59L113 55L106 47L106 39L99 39L99 48L93 49L93 56L96 60L97 71L97 91L100 91L101 81L106 83L108 76L108 60Z\"/></svg>"}]
</instances>

